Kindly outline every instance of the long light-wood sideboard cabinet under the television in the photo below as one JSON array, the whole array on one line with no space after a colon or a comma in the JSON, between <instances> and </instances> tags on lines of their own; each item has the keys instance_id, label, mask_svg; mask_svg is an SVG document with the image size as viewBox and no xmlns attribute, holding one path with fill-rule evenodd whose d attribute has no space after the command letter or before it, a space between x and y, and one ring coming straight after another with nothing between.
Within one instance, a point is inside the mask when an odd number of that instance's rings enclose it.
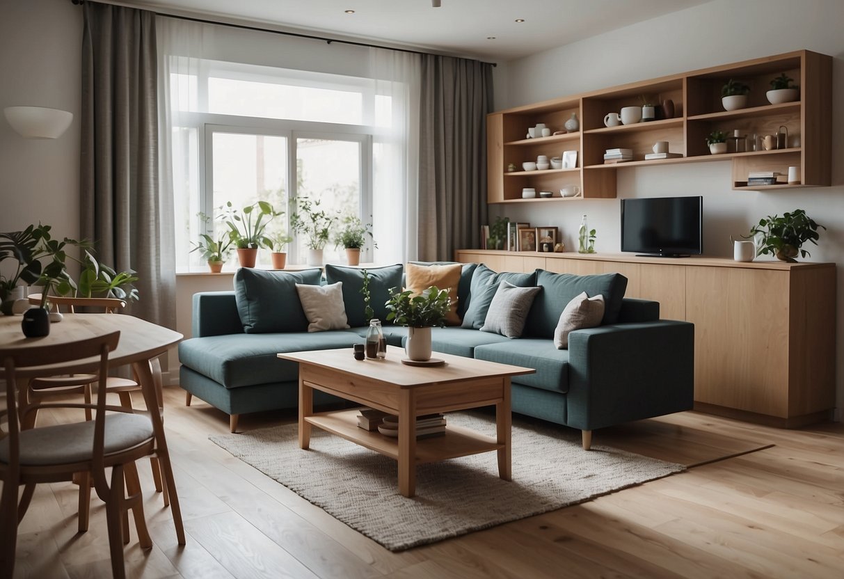
<instances>
[{"instance_id":1,"label":"long light-wood sideboard cabinet under the television","mask_svg":"<svg viewBox=\"0 0 844 579\"><path fill-rule=\"evenodd\" d=\"M695 324L695 409L796 428L835 407L835 263L484 250L456 259L496 271L622 273L626 297Z\"/></svg>"}]
</instances>

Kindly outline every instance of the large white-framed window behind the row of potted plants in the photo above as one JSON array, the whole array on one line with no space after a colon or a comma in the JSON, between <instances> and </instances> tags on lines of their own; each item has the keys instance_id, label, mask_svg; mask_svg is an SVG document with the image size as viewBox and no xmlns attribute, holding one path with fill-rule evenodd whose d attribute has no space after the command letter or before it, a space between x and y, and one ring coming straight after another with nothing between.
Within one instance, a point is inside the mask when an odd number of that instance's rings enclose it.
<instances>
[{"instance_id":1,"label":"large white-framed window behind the row of potted plants","mask_svg":"<svg viewBox=\"0 0 844 579\"><path fill-rule=\"evenodd\" d=\"M178 57L173 57L178 58ZM219 236L225 225L203 222L268 201L282 217L266 233L288 233L295 198L322 200L338 214L371 222L373 137L389 119L390 98L366 78L307 73L219 61L198 61L191 73L170 74L176 264L204 271L190 252L200 233ZM377 120L376 120L377 119ZM306 262L306 240L289 244L289 263ZM371 261L371 247L362 259ZM343 262L342 248L325 259ZM233 261L231 261L233 262ZM258 267L270 262L258 253Z\"/></svg>"}]
</instances>

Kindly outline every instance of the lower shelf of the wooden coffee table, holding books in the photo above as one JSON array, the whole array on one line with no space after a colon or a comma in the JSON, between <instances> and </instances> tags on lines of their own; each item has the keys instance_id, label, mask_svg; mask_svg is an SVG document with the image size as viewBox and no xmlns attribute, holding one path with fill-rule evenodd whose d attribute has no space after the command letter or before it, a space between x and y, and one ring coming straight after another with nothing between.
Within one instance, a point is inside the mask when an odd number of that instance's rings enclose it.
<instances>
[{"instance_id":1,"label":"lower shelf of the wooden coffee table, holding books","mask_svg":"<svg viewBox=\"0 0 844 579\"><path fill-rule=\"evenodd\" d=\"M373 432L359 428L357 414L357 410L339 410L312 414L305 419L322 430L398 460L398 439L384 436L377 430ZM495 438L468 428L446 425L446 433L443 436L416 440L416 463L435 463L446 458L466 457L503 448L504 445L496 442Z\"/></svg>"}]
</instances>

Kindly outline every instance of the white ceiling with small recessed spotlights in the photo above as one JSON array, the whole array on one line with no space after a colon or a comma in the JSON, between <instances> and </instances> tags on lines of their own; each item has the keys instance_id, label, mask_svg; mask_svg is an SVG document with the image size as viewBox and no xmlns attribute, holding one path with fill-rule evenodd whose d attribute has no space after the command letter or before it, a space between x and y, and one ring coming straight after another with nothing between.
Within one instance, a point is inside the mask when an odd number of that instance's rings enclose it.
<instances>
[{"instance_id":1,"label":"white ceiling with small recessed spotlights","mask_svg":"<svg viewBox=\"0 0 844 579\"><path fill-rule=\"evenodd\" d=\"M108 1L108 0L106 0ZM125 0L166 12L269 23L321 35L490 61L526 57L709 0ZM354 14L346 14L354 10ZM524 19L524 22L516 22Z\"/></svg>"}]
</instances>

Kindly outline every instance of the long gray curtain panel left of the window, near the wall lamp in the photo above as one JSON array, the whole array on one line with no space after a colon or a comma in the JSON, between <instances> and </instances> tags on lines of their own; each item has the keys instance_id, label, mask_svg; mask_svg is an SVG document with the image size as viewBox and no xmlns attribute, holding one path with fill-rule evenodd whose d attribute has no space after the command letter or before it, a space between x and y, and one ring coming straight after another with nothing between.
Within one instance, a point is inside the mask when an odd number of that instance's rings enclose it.
<instances>
[{"instance_id":1,"label":"long gray curtain panel left of the window, near the wall lamp","mask_svg":"<svg viewBox=\"0 0 844 579\"><path fill-rule=\"evenodd\" d=\"M158 187L155 15L84 4L81 232L138 272L133 315L176 327L172 199Z\"/></svg>"}]
</instances>

